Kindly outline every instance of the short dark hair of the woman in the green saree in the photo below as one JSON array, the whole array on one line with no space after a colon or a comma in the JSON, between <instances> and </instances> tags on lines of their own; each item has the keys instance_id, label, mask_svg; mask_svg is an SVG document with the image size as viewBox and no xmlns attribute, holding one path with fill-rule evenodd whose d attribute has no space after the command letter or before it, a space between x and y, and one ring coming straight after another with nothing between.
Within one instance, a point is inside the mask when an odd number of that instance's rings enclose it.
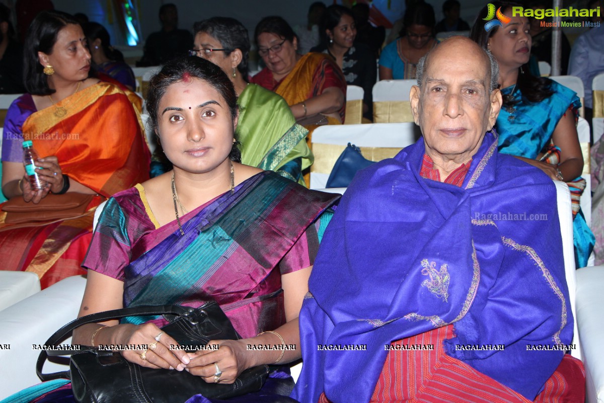
<instances>
[{"instance_id":1,"label":"short dark hair of the woman in the green saree","mask_svg":"<svg viewBox=\"0 0 604 403\"><path fill-rule=\"evenodd\" d=\"M230 49L225 51L225 56L229 56L233 50L239 49L242 53L242 59L237 69L244 80L248 79L248 58L249 58L249 35L248 30L243 24L230 17L212 17L204 21L196 22L193 25L193 35L205 32L220 42L220 47Z\"/></svg>"}]
</instances>

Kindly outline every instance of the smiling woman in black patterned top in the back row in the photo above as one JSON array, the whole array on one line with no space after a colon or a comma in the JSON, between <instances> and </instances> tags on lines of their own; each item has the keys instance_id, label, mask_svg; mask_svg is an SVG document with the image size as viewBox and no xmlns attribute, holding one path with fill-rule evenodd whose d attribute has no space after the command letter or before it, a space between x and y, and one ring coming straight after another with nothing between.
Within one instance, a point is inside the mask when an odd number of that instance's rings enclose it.
<instances>
[{"instance_id":1,"label":"smiling woman in black patterned top in the back row","mask_svg":"<svg viewBox=\"0 0 604 403\"><path fill-rule=\"evenodd\" d=\"M348 85L364 90L363 116L373 120L371 91L376 83L376 59L371 48L355 42L355 16L349 8L334 4L327 7L320 28L321 44L311 52L329 54L338 63Z\"/></svg>"}]
</instances>

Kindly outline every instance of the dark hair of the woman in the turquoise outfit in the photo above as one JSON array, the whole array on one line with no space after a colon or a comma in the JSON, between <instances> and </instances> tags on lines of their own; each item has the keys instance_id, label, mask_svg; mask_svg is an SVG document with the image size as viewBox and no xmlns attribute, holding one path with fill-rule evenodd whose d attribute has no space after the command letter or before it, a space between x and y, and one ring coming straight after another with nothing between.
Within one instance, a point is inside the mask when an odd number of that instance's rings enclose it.
<instances>
[{"instance_id":1,"label":"dark hair of the woman in the turquoise outfit","mask_svg":"<svg viewBox=\"0 0 604 403\"><path fill-rule=\"evenodd\" d=\"M506 10L511 10L512 7L519 7L518 3L507 1L493 1L492 4L495 6L495 10L498 10L501 7L502 13L506 13ZM485 50L488 49L489 38L500 29L498 26L491 28L488 32L484 29L484 18L486 18L488 14L489 9L488 5L486 5L482 10L478 11L478 16L470 31L470 39L474 40L474 42ZM533 103L541 102L553 94L553 91L551 91L551 80L545 77L533 76L528 68L528 63L525 63L520 67L520 73L516 80L516 88L520 90L522 98ZM518 101L513 101L512 94L503 97L503 106L512 106L515 103L518 103Z\"/></svg>"}]
</instances>

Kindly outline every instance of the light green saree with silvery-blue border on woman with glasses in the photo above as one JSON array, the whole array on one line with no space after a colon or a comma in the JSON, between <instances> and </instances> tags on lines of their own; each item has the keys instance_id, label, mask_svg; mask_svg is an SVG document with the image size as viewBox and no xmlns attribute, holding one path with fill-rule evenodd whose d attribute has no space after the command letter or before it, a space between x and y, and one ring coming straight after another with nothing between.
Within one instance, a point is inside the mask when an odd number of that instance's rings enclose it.
<instances>
[{"instance_id":1,"label":"light green saree with silvery-blue border on woman with glasses","mask_svg":"<svg viewBox=\"0 0 604 403\"><path fill-rule=\"evenodd\" d=\"M241 162L304 185L301 172L314 158L308 145L308 131L296 124L288 104L274 92L248 84L238 100L237 135Z\"/></svg>"}]
</instances>

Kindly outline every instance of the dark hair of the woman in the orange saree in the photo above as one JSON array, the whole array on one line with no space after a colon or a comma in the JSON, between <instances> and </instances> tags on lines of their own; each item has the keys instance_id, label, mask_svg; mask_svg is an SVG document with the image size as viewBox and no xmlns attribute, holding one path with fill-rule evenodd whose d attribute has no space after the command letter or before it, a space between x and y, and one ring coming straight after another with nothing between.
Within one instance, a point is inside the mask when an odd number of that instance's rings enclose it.
<instances>
[{"instance_id":1,"label":"dark hair of the woman in the orange saree","mask_svg":"<svg viewBox=\"0 0 604 403\"><path fill-rule=\"evenodd\" d=\"M32 95L54 94L54 89L48 86L46 74L40 64L37 53L53 53L59 31L67 25L78 25L69 14L62 11L42 11L31 21L25 34L23 45L24 85Z\"/></svg>"}]
</instances>

